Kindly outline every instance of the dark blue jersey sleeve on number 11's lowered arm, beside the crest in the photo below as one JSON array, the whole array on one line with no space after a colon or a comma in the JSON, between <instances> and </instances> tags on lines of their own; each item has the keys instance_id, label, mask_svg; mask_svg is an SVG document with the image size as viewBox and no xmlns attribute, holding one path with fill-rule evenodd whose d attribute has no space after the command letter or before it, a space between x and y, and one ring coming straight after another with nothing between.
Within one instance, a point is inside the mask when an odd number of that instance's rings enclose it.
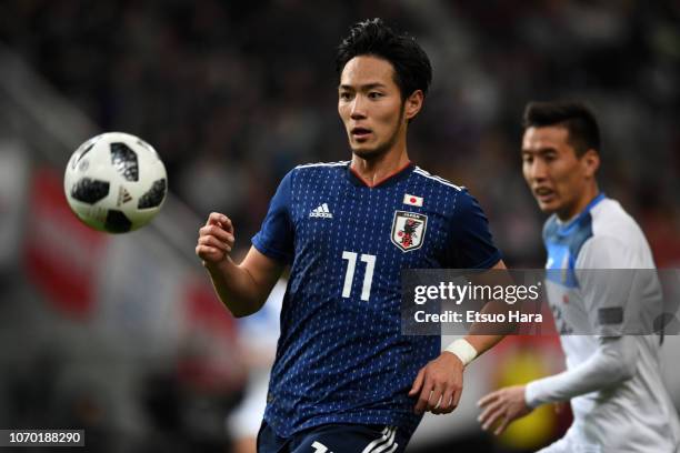
<instances>
[{"instance_id":1,"label":"dark blue jersey sleeve on number 11's lowered arm, beside the crest","mask_svg":"<svg viewBox=\"0 0 680 453\"><path fill-rule=\"evenodd\" d=\"M487 215L477 200L462 190L456 197L447 250L447 265L452 269L489 269L500 259L493 244Z\"/></svg>"}]
</instances>

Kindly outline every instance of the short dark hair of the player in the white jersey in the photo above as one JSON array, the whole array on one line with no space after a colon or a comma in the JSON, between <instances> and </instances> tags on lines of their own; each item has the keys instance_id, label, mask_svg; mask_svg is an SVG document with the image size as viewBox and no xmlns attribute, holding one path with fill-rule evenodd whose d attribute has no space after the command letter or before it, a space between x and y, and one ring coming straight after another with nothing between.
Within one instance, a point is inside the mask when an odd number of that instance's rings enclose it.
<instances>
[{"instance_id":1,"label":"short dark hair of the player in the white jersey","mask_svg":"<svg viewBox=\"0 0 680 453\"><path fill-rule=\"evenodd\" d=\"M600 128L596 117L582 102L529 102L524 109L522 125L561 125L569 131L569 143L578 157L588 150L600 152Z\"/></svg>"}]
</instances>

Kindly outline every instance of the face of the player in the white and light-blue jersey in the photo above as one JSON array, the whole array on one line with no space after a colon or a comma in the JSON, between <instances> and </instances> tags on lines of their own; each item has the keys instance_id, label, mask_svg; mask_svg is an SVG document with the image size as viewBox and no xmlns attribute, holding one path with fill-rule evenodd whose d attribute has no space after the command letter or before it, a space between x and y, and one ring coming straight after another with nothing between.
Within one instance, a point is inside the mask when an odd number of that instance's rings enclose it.
<instances>
[{"instance_id":1,"label":"face of the player in the white and light-blue jersey","mask_svg":"<svg viewBox=\"0 0 680 453\"><path fill-rule=\"evenodd\" d=\"M528 128L522 139L522 172L543 212L568 220L597 195L598 154L578 157L561 125Z\"/></svg>"}]
</instances>

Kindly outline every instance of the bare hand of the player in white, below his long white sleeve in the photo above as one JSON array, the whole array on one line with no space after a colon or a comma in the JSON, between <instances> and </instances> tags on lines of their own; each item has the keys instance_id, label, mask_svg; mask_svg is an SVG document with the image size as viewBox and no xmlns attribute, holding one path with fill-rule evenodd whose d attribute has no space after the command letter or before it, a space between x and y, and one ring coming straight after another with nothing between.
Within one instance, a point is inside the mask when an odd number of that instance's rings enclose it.
<instances>
[{"instance_id":1,"label":"bare hand of the player in white, below his long white sleeve","mask_svg":"<svg viewBox=\"0 0 680 453\"><path fill-rule=\"evenodd\" d=\"M491 392L479 400L477 405L483 412L477 420L482 424L482 430L487 431L499 423L493 434L500 435L510 422L533 411L527 405L524 393L524 385L514 385Z\"/></svg>"}]
</instances>

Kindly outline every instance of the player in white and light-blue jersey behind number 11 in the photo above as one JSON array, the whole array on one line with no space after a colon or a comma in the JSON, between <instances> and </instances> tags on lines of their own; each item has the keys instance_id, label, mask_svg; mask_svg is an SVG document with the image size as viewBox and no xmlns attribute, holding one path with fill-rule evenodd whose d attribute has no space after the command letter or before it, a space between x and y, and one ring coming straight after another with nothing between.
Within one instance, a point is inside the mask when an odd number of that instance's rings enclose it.
<instances>
[{"instance_id":1,"label":"player in white and light-blue jersey behind number 11","mask_svg":"<svg viewBox=\"0 0 680 453\"><path fill-rule=\"evenodd\" d=\"M624 329L657 298L656 273L638 272L630 288L630 272L610 279L597 271L654 269L636 221L599 190L599 150L598 123L583 104L527 107L522 169L539 208L552 214L543 229L546 288L567 371L490 393L480 400L480 421L500 434L540 404L570 402L573 424L541 452L678 452L680 422L661 380L659 335ZM593 334L583 334L584 325Z\"/></svg>"}]
</instances>

